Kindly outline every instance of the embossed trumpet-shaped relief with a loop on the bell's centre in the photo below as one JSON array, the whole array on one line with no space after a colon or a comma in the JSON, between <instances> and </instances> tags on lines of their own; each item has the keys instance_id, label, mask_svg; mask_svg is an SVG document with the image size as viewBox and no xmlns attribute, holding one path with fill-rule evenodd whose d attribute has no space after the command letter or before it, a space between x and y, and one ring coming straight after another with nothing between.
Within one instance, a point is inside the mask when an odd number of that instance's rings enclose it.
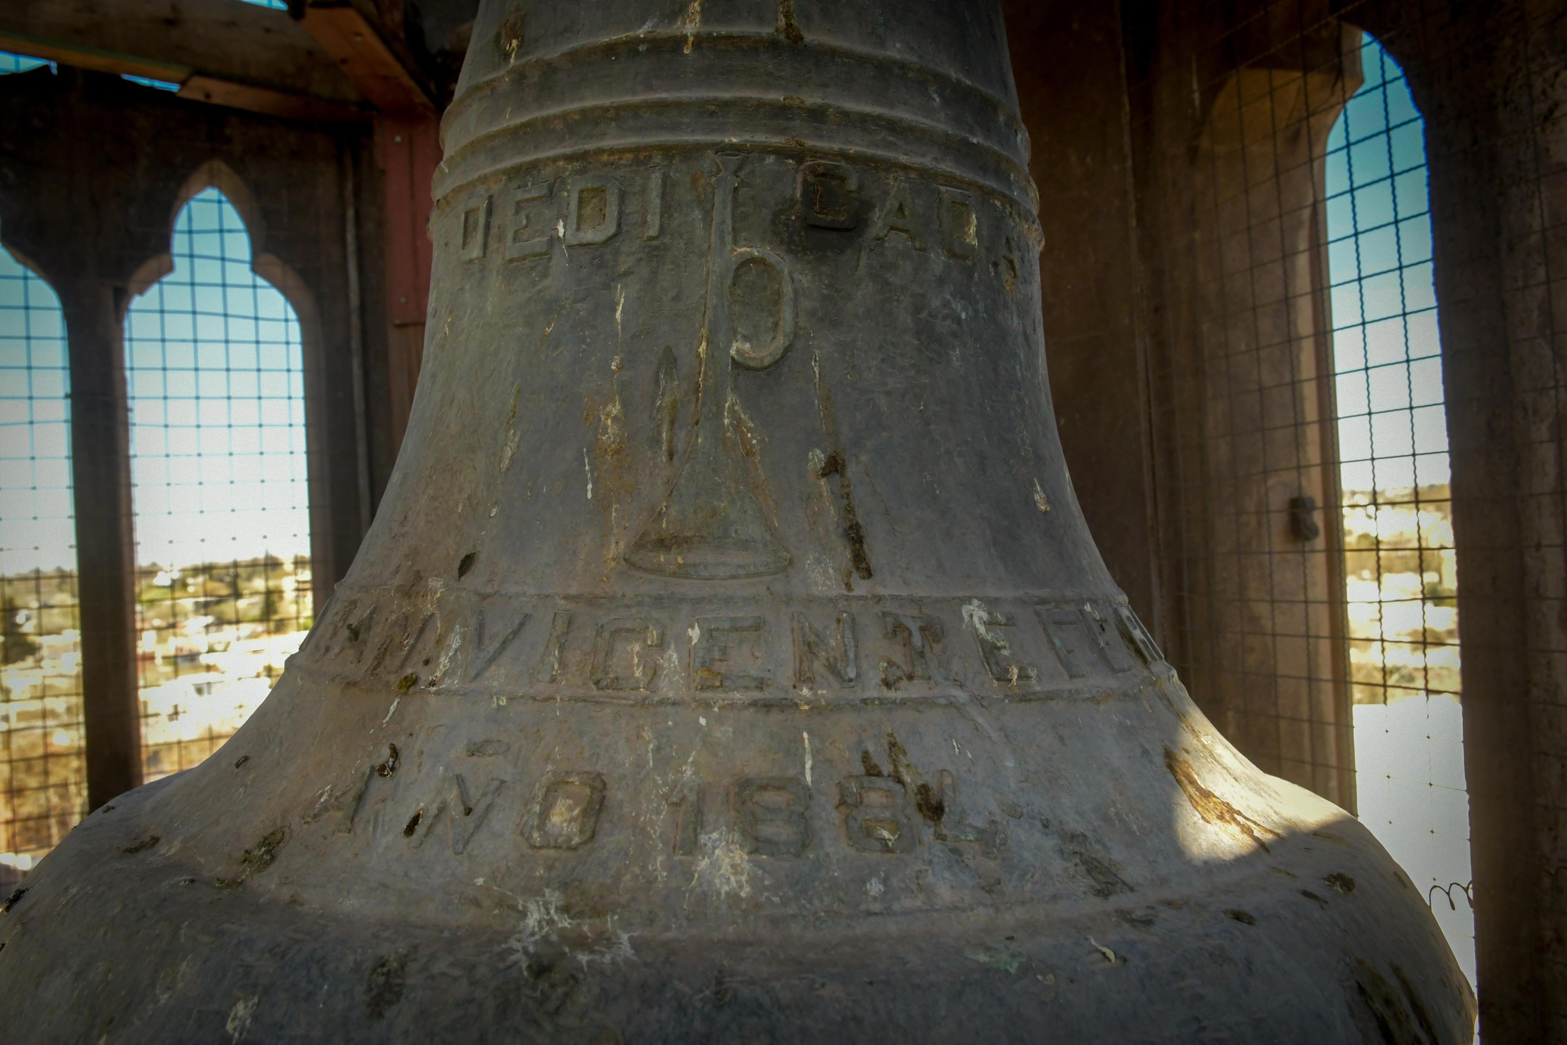
<instances>
[{"instance_id":1,"label":"embossed trumpet-shaped relief with a loop on the bell's centre","mask_svg":"<svg viewBox=\"0 0 1567 1045\"><path fill-rule=\"evenodd\" d=\"M730 580L779 573L790 562L757 494L755 429L733 390L733 365L768 370L794 340L794 284L773 251L735 246L735 185L743 157L718 155L707 309L697 343L697 410L674 483L625 553L649 573ZM746 266L773 269L779 285L773 337L760 349L735 329L732 298Z\"/></svg>"}]
</instances>

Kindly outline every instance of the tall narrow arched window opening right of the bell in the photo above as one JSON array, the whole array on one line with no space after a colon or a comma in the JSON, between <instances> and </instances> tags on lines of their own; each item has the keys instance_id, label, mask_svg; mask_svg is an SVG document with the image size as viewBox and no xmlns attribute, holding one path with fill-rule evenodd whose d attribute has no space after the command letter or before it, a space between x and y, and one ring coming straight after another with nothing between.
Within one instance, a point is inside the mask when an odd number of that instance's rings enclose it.
<instances>
[{"instance_id":1,"label":"tall narrow arched window opening right of the bell","mask_svg":"<svg viewBox=\"0 0 1567 1045\"><path fill-rule=\"evenodd\" d=\"M1327 139L1349 666L1360 819L1475 979L1468 791L1424 121L1370 36Z\"/></svg>"}]
</instances>

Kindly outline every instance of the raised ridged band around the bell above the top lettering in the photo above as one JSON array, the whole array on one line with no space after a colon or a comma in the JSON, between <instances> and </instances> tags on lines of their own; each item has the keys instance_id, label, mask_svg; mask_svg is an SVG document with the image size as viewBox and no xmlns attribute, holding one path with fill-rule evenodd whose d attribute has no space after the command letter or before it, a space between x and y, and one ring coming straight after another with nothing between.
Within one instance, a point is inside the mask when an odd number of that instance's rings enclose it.
<instances>
[{"instance_id":1,"label":"raised ridged band around the bell above the top lettering","mask_svg":"<svg viewBox=\"0 0 1567 1045\"><path fill-rule=\"evenodd\" d=\"M782 47L763 33L694 34L691 53L683 53L685 39L660 33L580 45L519 61L464 91L442 124L447 160L436 199L481 177L584 152L771 146L901 163L967 182L1011 199L1033 224L1028 135L1001 99L967 80L815 41ZM782 61L755 61L762 49ZM668 74L671 50L682 52L680 77ZM578 75L589 63L591 96ZM868 94L865 81L890 81L893 89ZM722 96L680 89L713 83L724 85ZM621 128L632 119L635 125ZM715 128L693 135L693 122Z\"/></svg>"}]
</instances>

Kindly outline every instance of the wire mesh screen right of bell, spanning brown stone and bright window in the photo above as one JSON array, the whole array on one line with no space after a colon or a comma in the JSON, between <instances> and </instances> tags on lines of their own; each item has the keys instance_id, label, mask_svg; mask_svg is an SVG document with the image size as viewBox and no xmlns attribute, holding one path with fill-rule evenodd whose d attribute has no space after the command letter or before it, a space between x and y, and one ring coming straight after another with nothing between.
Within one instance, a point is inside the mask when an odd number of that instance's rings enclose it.
<instances>
[{"instance_id":1,"label":"wire mesh screen right of bell, spanning brown stone and bright window","mask_svg":"<svg viewBox=\"0 0 1567 1045\"><path fill-rule=\"evenodd\" d=\"M1139 207L1166 222L1147 243L1167 645L1252 761L1363 818L1473 981L1421 114L1340 20L1354 5L1167 19L1131 85Z\"/></svg>"}]
</instances>

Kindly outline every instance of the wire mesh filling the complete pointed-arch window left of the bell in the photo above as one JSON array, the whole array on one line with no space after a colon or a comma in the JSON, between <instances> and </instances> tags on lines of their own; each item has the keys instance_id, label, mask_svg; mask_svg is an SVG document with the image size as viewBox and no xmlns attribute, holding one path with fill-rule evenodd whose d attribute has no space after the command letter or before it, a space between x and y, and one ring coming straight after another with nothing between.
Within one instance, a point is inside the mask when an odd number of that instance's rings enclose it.
<instances>
[{"instance_id":1,"label":"wire mesh filling the complete pointed-arch window left of the bell","mask_svg":"<svg viewBox=\"0 0 1567 1045\"><path fill-rule=\"evenodd\" d=\"M125 320L143 765L215 752L312 622L299 323L216 188Z\"/></svg>"}]
</instances>

